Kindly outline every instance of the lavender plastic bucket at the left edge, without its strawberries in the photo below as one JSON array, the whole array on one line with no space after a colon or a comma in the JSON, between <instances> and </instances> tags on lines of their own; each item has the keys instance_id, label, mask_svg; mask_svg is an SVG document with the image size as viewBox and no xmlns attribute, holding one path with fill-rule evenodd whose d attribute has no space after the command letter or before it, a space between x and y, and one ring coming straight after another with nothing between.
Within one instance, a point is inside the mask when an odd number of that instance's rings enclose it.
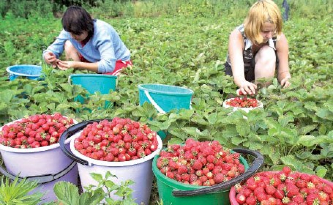
<instances>
[{"instance_id":1,"label":"lavender plastic bucket at the left edge, without its strawberries","mask_svg":"<svg viewBox=\"0 0 333 205\"><path fill-rule=\"evenodd\" d=\"M67 147L70 146L71 140L72 138L69 138L65 141ZM39 186L33 192L46 192L43 197L44 203L57 199L53 192L56 182L68 181L77 185L76 162L61 151L59 143L27 149L12 148L0 144L0 152L6 166L6 169L0 167L0 172L10 179L19 175L20 178L27 177L29 180L38 180Z\"/></svg>"}]
</instances>

